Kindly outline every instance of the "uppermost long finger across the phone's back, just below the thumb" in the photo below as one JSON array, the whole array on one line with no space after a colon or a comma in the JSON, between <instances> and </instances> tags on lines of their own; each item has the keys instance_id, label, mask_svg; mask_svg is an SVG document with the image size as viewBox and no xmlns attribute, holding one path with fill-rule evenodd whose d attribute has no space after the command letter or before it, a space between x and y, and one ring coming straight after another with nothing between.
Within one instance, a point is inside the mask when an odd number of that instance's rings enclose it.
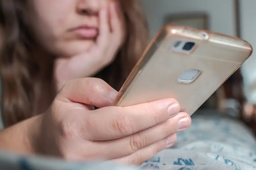
<instances>
[{"instance_id":1,"label":"uppermost long finger across the phone's back, just below the thumb","mask_svg":"<svg viewBox=\"0 0 256 170\"><path fill-rule=\"evenodd\" d=\"M105 107L79 118L80 135L88 141L125 137L160 124L180 111L175 99L163 99L129 107ZM86 131L84 131L86 129Z\"/></svg>"}]
</instances>

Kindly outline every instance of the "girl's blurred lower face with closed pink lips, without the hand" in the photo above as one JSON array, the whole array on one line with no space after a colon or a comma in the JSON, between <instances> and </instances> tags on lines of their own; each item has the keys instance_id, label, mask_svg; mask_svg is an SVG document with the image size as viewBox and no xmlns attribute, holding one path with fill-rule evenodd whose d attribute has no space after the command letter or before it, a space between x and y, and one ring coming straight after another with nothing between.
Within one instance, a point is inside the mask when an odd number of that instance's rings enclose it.
<instances>
[{"instance_id":1,"label":"girl's blurred lower face with closed pink lips, without the hand","mask_svg":"<svg viewBox=\"0 0 256 170\"><path fill-rule=\"evenodd\" d=\"M68 57L86 52L98 36L99 11L111 1L29 0L30 29L53 54Z\"/></svg>"}]
</instances>

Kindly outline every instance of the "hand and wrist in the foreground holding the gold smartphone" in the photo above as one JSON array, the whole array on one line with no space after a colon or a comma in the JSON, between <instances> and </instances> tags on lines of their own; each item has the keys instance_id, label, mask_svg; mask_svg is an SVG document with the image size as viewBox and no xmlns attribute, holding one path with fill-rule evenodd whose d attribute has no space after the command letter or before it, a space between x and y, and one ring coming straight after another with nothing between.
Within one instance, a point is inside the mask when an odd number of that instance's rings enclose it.
<instances>
[{"instance_id":1,"label":"hand and wrist in the foreground holding the gold smartphone","mask_svg":"<svg viewBox=\"0 0 256 170\"><path fill-rule=\"evenodd\" d=\"M45 114L2 131L0 146L67 160L141 164L172 146L175 133L191 124L175 99L113 107L115 94L98 78L70 80ZM100 109L93 110L91 105Z\"/></svg>"}]
</instances>

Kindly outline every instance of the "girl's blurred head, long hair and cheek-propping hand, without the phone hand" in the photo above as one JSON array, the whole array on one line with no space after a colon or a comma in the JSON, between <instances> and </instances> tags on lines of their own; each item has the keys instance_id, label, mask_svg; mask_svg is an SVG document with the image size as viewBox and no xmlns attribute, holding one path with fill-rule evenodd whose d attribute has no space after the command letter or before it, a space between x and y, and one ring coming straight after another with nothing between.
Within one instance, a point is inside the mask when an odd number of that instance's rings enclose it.
<instances>
[{"instance_id":1,"label":"girl's blurred head, long hair and cheek-propping hand, without the phone hand","mask_svg":"<svg viewBox=\"0 0 256 170\"><path fill-rule=\"evenodd\" d=\"M68 80L98 77L119 90L148 42L136 0L1 2L5 127L44 113ZM102 20L98 21L101 17Z\"/></svg>"}]
</instances>

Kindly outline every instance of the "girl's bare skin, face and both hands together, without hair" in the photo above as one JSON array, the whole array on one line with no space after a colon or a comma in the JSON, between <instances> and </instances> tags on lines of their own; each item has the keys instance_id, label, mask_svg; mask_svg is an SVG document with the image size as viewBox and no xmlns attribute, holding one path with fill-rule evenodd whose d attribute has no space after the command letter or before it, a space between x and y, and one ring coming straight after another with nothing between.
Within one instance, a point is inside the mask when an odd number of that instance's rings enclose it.
<instances>
[{"instance_id":1,"label":"girl's bare skin, face and both hands together, without hair","mask_svg":"<svg viewBox=\"0 0 256 170\"><path fill-rule=\"evenodd\" d=\"M113 107L117 92L112 87L101 79L82 78L111 63L125 39L118 3L29 2L34 36L42 49L58 54L54 75L59 94L44 114L1 131L1 148L67 160L141 164L172 146L176 132L190 126L191 118L180 112L175 99ZM86 36L70 31L79 25L94 29L79 30L87 31Z\"/></svg>"}]
</instances>

